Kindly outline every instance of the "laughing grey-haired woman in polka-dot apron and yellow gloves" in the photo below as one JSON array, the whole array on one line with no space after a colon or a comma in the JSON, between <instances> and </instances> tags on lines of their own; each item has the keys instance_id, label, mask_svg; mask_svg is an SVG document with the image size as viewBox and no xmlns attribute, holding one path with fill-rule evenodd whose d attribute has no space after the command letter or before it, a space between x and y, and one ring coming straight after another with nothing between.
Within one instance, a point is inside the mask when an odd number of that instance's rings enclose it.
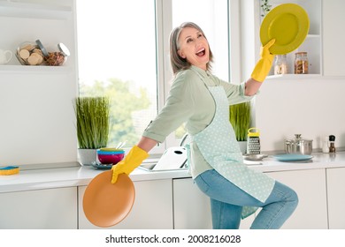
<instances>
[{"instance_id":1,"label":"laughing grey-haired woman in polka-dot apron and yellow gloves","mask_svg":"<svg viewBox=\"0 0 345 247\"><path fill-rule=\"evenodd\" d=\"M213 228L239 228L242 218L262 207L251 228L280 228L295 211L295 191L249 169L229 122L229 104L250 101L272 67L270 41L262 48L251 78L233 85L210 72L212 53L202 29L184 23L170 35L174 80L165 107L149 123L139 143L113 169L111 183L129 175L158 142L181 123L192 141L188 164L197 186L211 198Z\"/></svg>"}]
</instances>

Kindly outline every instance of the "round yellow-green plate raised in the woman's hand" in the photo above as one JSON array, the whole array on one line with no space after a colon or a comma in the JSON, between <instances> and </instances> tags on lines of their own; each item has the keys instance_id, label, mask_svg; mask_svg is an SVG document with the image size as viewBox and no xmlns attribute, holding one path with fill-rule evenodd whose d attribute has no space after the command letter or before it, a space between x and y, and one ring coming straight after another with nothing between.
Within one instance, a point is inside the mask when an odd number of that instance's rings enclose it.
<instances>
[{"instance_id":1,"label":"round yellow-green plate raised in the woman's hand","mask_svg":"<svg viewBox=\"0 0 345 247\"><path fill-rule=\"evenodd\" d=\"M310 21L308 14L298 4L280 4L269 11L260 27L263 45L275 39L272 54L287 54L297 49L307 37Z\"/></svg>"}]
</instances>

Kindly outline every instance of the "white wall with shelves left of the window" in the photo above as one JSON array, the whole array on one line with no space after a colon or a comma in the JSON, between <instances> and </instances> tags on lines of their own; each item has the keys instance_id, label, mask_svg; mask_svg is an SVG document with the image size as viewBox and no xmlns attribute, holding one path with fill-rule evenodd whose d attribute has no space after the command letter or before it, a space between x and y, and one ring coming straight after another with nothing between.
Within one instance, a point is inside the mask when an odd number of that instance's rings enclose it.
<instances>
[{"instance_id":1,"label":"white wall with shelves left of the window","mask_svg":"<svg viewBox=\"0 0 345 247\"><path fill-rule=\"evenodd\" d=\"M0 49L14 53L19 43L39 39L48 51L58 50L58 43L63 42L71 56L61 67L20 65L15 56L9 64L0 65L0 165L75 163L74 1L20 2L28 5L0 4ZM40 2L43 5L36 4Z\"/></svg>"}]
</instances>

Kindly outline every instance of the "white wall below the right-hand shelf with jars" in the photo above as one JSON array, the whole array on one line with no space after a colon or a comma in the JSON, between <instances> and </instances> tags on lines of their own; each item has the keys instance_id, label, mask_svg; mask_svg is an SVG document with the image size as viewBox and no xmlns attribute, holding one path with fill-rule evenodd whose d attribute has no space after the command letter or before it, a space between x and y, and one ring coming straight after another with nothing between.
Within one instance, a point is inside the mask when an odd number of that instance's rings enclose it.
<instances>
[{"instance_id":1,"label":"white wall below the right-hand shelf with jars","mask_svg":"<svg viewBox=\"0 0 345 247\"><path fill-rule=\"evenodd\" d=\"M266 80L256 99L256 123L263 151L284 150L286 138L313 139L321 148L325 136L345 146L345 79Z\"/></svg>"}]
</instances>

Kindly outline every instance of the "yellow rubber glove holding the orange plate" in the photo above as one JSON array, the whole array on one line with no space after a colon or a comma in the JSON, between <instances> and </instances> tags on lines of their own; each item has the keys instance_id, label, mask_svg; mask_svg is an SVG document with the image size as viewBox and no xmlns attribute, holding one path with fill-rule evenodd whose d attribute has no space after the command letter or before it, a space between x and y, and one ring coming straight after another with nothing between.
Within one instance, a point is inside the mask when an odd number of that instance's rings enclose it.
<instances>
[{"instance_id":1,"label":"yellow rubber glove holding the orange plate","mask_svg":"<svg viewBox=\"0 0 345 247\"><path fill-rule=\"evenodd\" d=\"M112 166L111 183L116 183L116 181L118 181L119 174L126 173L126 175L129 175L134 168L139 167L142 161L147 157L149 157L149 153L142 150L139 146L134 146L129 153L127 153L124 160Z\"/></svg>"}]
</instances>

